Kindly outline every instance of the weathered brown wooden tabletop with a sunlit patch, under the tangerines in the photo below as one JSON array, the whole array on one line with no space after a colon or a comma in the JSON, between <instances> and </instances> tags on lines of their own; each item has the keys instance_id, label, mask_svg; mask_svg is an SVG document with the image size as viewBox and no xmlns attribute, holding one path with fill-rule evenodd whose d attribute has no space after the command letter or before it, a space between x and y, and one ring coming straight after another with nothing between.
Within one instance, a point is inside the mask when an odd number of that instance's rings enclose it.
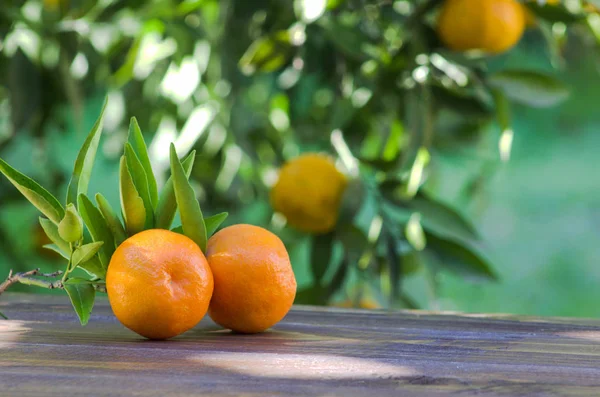
<instances>
[{"instance_id":1,"label":"weathered brown wooden tabletop with a sunlit patch, under the tangerines","mask_svg":"<svg viewBox=\"0 0 600 397\"><path fill-rule=\"evenodd\" d=\"M296 307L273 330L209 320L167 342L106 301L7 295L0 396L600 395L600 321Z\"/></svg>"}]
</instances>

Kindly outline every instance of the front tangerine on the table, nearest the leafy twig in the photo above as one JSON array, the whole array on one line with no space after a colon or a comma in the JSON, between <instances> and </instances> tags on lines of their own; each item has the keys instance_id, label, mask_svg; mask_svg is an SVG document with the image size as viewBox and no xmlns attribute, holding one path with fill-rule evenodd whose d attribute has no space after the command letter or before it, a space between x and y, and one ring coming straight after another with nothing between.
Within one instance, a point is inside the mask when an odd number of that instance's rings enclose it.
<instances>
[{"instance_id":1,"label":"front tangerine on the table, nearest the leafy twig","mask_svg":"<svg viewBox=\"0 0 600 397\"><path fill-rule=\"evenodd\" d=\"M213 276L200 247L168 230L125 240L106 274L110 305L119 321L148 339L168 339L193 328L208 309Z\"/></svg>"}]
</instances>

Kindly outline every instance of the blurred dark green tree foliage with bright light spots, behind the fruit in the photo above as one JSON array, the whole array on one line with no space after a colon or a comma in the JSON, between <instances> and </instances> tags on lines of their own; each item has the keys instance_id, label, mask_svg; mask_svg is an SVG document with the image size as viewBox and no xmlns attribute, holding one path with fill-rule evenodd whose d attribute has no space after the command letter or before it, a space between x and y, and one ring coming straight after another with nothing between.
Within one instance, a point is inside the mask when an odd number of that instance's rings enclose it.
<instances>
[{"instance_id":1,"label":"blurred dark green tree foliage with bright light spots, behind the fruit","mask_svg":"<svg viewBox=\"0 0 600 397\"><path fill-rule=\"evenodd\" d=\"M470 156L495 142L498 158L464 186L467 197L476 194L510 157L509 103L559 103L568 94L556 78L567 34L590 48L600 37L588 2L527 2L538 16L529 34L556 71L548 73L445 49L435 32L441 1L8 3L0 11L0 157L31 142L40 166L30 170L62 194L71 165L57 147L77 146L106 90L104 166L117 167L129 115L156 131L146 138L159 172L169 166L166 142L179 153L195 148L203 208L277 231L302 275L298 301L320 304L364 293L412 307L402 279L415 272L426 277L431 303L441 271L493 279L474 228L428 192L431 166L440 151ZM331 234L284 228L269 206L277 168L307 151L337 154L355 178ZM16 200L0 185L3 206Z\"/></svg>"}]
</instances>

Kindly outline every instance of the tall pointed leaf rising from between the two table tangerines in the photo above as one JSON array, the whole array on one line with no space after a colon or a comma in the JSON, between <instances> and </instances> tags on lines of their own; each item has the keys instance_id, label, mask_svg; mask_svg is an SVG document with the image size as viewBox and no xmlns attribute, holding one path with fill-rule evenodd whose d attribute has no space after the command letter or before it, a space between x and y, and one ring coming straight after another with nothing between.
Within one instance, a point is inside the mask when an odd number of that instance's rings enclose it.
<instances>
[{"instance_id":1,"label":"tall pointed leaf rising from between the two table tangerines","mask_svg":"<svg viewBox=\"0 0 600 397\"><path fill-rule=\"evenodd\" d=\"M204 224L202 210L196 199L196 193L194 193L183 166L177 158L177 152L173 144L171 144L171 177L173 178L173 188L175 189L183 233L198 244L204 252L206 251L206 225Z\"/></svg>"}]
</instances>

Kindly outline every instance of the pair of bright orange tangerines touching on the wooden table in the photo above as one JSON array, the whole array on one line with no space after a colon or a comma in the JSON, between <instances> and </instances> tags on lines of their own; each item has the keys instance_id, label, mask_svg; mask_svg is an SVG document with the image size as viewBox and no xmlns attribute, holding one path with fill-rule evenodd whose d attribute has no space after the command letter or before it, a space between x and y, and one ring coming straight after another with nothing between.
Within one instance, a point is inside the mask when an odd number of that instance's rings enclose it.
<instances>
[{"instance_id":1,"label":"pair of bright orange tangerines touching on the wooden table","mask_svg":"<svg viewBox=\"0 0 600 397\"><path fill-rule=\"evenodd\" d=\"M117 319L149 339L177 336L206 312L224 328L256 333L279 322L296 295L285 246L258 226L216 233L206 256L188 237L152 229L125 240L106 275Z\"/></svg>"}]
</instances>

